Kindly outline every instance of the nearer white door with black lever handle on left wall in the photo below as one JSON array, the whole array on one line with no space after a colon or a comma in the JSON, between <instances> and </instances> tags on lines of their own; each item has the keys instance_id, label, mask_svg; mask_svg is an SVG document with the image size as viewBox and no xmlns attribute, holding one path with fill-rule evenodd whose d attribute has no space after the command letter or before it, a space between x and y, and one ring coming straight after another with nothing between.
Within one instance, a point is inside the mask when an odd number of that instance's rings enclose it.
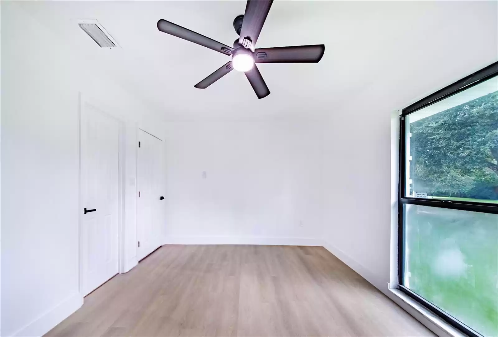
<instances>
[{"instance_id":1,"label":"nearer white door with black lever handle on left wall","mask_svg":"<svg viewBox=\"0 0 498 337\"><path fill-rule=\"evenodd\" d=\"M119 122L89 104L81 112L81 288L118 273ZM86 208L86 213L83 208Z\"/></svg>"}]
</instances>

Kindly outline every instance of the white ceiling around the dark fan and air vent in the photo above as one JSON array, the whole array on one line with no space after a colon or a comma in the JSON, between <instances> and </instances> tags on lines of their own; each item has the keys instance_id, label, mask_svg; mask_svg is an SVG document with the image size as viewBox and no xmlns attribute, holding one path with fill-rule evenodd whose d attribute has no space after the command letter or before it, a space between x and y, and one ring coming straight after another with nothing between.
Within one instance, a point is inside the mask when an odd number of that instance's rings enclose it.
<instances>
[{"instance_id":1,"label":"white ceiling around the dark fan and air vent","mask_svg":"<svg viewBox=\"0 0 498 337\"><path fill-rule=\"evenodd\" d=\"M372 86L400 90L407 104L498 59L496 1L275 1L257 47L324 43L325 55L317 64L259 65L271 94L258 100L236 71L194 88L229 56L156 27L164 18L232 45L245 1L21 5L164 120L318 119ZM99 48L81 18L98 19L122 49Z\"/></svg>"}]
</instances>

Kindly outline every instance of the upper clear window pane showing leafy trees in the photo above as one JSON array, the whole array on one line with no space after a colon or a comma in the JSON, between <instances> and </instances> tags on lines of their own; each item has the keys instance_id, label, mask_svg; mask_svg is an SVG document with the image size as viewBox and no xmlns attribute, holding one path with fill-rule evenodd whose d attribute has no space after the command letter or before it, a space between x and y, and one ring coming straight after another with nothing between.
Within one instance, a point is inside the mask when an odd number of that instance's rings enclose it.
<instances>
[{"instance_id":1,"label":"upper clear window pane showing leafy trees","mask_svg":"<svg viewBox=\"0 0 498 337\"><path fill-rule=\"evenodd\" d=\"M406 196L498 203L498 77L407 115L405 126Z\"/></svg>"}]
</instances>

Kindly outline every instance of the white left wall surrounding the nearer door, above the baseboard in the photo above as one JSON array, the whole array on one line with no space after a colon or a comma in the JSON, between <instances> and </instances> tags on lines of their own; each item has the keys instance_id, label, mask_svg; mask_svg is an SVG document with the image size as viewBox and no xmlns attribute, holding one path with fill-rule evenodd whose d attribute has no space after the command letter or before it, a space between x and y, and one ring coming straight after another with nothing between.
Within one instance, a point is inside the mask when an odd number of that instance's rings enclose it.
<instances>
[{"instance_id":1,"label":"white left wall surrounding the nearer door, above the baseboard","mask_svg":"<svg viewBox=\"0 0 498 337\"><path fill-rule=\"evenodd\" d=\"M1 2L1 336L41 335L83 300L79 93L126 126L125 219L134 233L136 126L147 124L147 107L91 68L17 3ZM136 239L126 239L130 268Z\"/></svg>"}]
</instances>

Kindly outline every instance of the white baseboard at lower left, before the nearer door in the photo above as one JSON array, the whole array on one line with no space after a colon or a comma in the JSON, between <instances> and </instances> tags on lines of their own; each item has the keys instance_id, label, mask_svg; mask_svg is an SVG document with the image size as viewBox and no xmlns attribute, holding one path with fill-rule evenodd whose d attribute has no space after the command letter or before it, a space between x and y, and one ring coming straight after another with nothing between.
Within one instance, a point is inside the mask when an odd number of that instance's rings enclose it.
<instances>
[{"instance_id":1,"label":"white baseboard at lower left, before the nearer door","mask_svg":"<svg viewBox=\"0 0 498 337\"><path fill-rule=\"evenodd\" d=\"M33 322L19 329L12 336L15 337L37 337L48 333L53 327L61 323L69 315L74 313L83 305L83 296L75 293L66 300L47 311Z\"/></svg>"}]
</instances>

